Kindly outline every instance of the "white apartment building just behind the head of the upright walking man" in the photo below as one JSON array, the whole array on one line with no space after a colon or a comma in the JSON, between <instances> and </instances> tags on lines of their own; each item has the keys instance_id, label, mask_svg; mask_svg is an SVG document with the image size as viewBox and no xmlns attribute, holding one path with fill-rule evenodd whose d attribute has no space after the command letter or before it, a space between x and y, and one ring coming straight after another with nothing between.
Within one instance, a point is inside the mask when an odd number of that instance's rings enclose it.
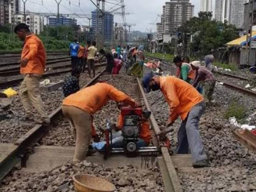
<instances>
[{"instance_id":1,"label":"white apartment building just behind the head of the upright walking man","mask_svg":"<svg viewBox=\"0 0 256 192\"><path fill-rule=\"evenodd\" d=\"M30 31L34 34L39 35L43 31L44 18L41 15L32 15L28 13L26 15L26 21L24 21L23 14L16 14L14 20L15 24L26 23L27 26L29 26Z\"/></svg>"}]
</instances>

